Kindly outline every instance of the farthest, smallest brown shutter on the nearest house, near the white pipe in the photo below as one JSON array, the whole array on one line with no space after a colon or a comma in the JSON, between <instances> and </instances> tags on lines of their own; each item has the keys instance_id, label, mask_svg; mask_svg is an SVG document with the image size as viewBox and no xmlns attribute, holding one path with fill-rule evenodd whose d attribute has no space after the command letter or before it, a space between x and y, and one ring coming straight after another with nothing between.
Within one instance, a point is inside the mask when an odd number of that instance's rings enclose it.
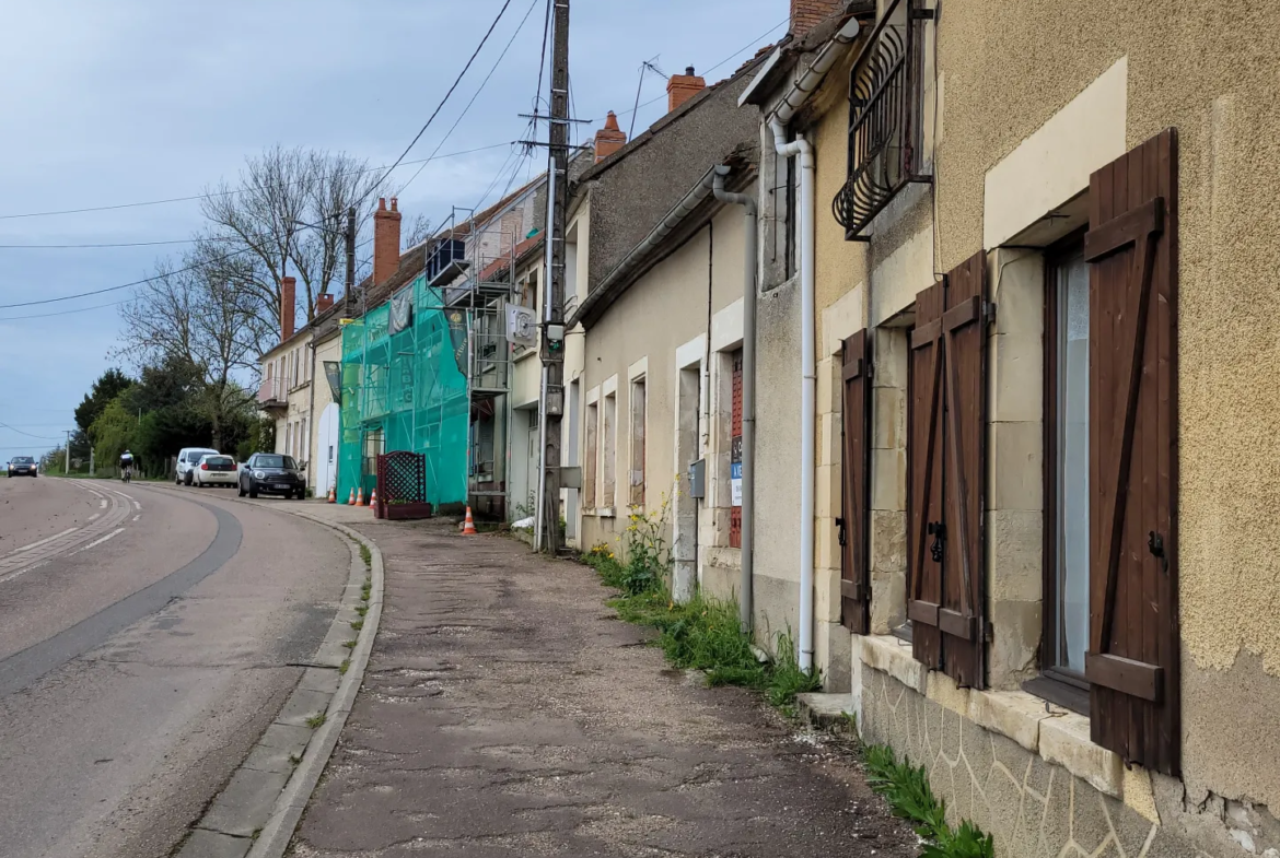
<instances>
[{"instance_id":1,"label":"farthest, smallest brown shutter on the nearest house, near the white pipe","mask_svg":"<svg viewBox=\"0 0 1280 858\"><path fill-rule=\"evenodd\" d=\"M855 634L870 629L868 524L870 509L870 352L867 330L845 340L841 372L844 450L841 453L840 621Z\"/></svg>"}]
</instances>

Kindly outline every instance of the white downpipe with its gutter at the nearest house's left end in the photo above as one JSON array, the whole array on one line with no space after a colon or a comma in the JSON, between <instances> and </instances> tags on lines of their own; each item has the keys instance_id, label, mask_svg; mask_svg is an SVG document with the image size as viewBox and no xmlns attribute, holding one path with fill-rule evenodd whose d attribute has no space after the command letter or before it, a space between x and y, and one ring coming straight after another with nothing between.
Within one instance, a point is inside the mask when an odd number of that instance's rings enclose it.
<instances>
[{"instance_id":1,"label":"white downpipe with its gutter at the nearest house's left end","mask_svg":"<svg viewBox=\"0 0 1280 858\"><path fill-rule=\"evenodd\" d=\"M783 157L800 156L800 670L813 673L813 584L814 584L814 431L817 417L818 376L814 366L814 153L813 144L803 136L787 142L786 127L809 96L822 84L845 46L858 37L858 19L850 18L813 64L782 96L765 121L773 132L773 146ZM745 320L744 320L745 322ZM744 371L746 355L744 353ZM745 393L745 391L744 391ZM744 403L745 405L745 403ZM744 431L745 431L744 426ZM742 439L744 446L746 439ZM745 488L745 486L744 486ZM744 515L744 523L746 517Z\"/></svg>"}]
</instances>

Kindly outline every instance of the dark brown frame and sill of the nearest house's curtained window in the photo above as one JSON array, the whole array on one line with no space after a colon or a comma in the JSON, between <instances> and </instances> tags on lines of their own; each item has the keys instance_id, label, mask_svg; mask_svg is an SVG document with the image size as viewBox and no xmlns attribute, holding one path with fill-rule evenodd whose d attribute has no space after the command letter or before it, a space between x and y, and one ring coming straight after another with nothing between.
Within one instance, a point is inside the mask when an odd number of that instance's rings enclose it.
<instances>
[{"instance_id":1,"label":"dark brown frame and sill of the nearest house's curtained window","mask_svg":"<svg viewBox=\"0 0 1280 858\"><path fill-rule=\"evenodd\" d=\"M1084 248L1088 226L1073 230L1044 248L1044 336L1043 336L1043 414L1041 464L1044 487L1041 561L1041 653L1039 675L1023 683L1023 689L1080 715L1089 715L1089 682L1083 673L1057 665L1057 417L1059 417L1059 274L1066 260ZM1093 325L1093 318L1089 318Z\"/></svg>"}]
</instances>

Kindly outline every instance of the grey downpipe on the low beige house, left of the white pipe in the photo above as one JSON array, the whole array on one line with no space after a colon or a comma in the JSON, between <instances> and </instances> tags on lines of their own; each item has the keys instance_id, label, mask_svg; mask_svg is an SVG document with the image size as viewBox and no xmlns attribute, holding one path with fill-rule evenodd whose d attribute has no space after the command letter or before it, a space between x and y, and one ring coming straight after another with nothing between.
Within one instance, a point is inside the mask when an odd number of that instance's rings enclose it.
<instances>
[{"instance_id":1,"label":"grey downpipe on the low beige house, left of the white pipe","mask_svg":"<svg viewBox=\"0 0 1280 858\"><path fill-rule=\"evenodd\" d=\"M755 283L756 283L756 205L755 197L724 191L727 166L716 168L712 192L723 203L742 206L746 238L742 265L742 581L739 593L739 621L751 632L753 574L755 547Z\"/></svg>"}]
</instances>

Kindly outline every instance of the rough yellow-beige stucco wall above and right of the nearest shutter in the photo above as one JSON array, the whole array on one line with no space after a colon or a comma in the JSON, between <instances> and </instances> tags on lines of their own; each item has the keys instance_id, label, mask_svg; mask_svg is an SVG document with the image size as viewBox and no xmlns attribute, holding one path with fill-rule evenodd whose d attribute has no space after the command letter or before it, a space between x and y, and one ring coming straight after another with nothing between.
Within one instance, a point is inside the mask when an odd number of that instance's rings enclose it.
<instances>
[{"instance_id":1,"label":"rough yellow-beige stucco wall above and right of the nearest shutter","mask_svg":"<svg viewBox=\"0 0 1280 858\"><path fill-rule=\"evenodd\" d=\"M1280 5L974 0L943 18L940 269L983 246L984 176L1124 60L1124 147L1179 133L1184 772L1280 807ZM1105 123L1102 123L1105 128ZM1100 130L1100 133L1103 133ZM1263 754L1263 743L1270 756Z\"/></svg>"}]
</instances>

